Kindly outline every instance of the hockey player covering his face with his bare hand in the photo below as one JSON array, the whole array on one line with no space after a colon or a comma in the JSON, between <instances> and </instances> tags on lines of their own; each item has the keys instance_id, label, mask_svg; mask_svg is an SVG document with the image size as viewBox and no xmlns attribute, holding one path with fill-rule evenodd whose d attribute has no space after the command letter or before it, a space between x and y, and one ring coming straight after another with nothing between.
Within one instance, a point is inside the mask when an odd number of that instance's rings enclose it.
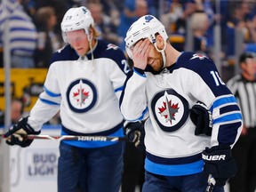
<instances>
[{"instance_id":1,"label":"hockey player covering his face with his bare hand","mask_svg":"<svg viewBox=\"0 0 256 192\"><path fill-rule=\"evenodd\" d=\"M236 174L231 148L242 128L240 108L212 60L178 52L167 39L152 15L135 21L125 38L134 68L124 84L121 112L131 122L148 118L142 191L203 192L209 175L213 191L224 191ZM209 116L198 116L200 110Z\"/></svg>"}]
</instances>

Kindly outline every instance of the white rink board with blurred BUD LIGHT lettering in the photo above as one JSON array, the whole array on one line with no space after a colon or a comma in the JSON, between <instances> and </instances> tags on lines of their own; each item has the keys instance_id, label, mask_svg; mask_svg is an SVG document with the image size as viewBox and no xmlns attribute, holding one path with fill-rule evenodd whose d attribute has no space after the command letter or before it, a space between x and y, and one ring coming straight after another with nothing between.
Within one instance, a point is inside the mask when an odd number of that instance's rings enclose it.
<instances>
[{"instance_id":1,"label":"white rink board with blurred BUD LIGHT lettering","mask_svg":"<svg viewBox=\"0 0 256 192\"><path fill-rule=\"evenodd\" d=\"M41 134L60 135L59 126ZM60 140L34 140L28 148L10 147L10 192L56 192Z\"/></svg>"}]
</instances>

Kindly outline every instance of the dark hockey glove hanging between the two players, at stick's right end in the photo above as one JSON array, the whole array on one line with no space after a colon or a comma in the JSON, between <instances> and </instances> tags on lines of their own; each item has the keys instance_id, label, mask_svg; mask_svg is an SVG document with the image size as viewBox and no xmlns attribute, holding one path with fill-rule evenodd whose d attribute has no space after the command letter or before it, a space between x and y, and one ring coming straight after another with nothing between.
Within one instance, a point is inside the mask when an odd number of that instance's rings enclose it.
<instances>
[{"instance_id":1,"label":"dark hockey glove hanging between the two players, at stick's right end","mask_svg":"<svg viewBox=\"0 0 256 192\"><path fill-rule=\"evenodd\" d=\"M133 143L136 148L141 151L145 150L144 137L145 130L144 124L141 122L128 123L124 126L124 132L129 142Z\"/></svg>"}]
</instances>

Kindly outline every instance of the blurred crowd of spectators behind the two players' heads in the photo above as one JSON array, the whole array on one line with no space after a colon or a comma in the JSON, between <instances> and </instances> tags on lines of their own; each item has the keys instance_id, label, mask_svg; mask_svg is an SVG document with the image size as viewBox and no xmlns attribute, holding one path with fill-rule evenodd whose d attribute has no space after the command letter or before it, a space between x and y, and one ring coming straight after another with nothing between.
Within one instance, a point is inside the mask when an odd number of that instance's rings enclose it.
<instances>
[{"instance_id":1,"label":"blurred crowd of spectators behind the two players' heads","mask_svg":"<svg viewBox=\"0 0 256 192\"><path fill-rule=\"evenodd\" d=\"M179 51L202 52L229 66L236 63L238 54L256 51L256 3L252 0L2 0L0 67L4 67L7 35L12 68L48 68L52 52L64 45L60 31L64 13L80 5L91 10L101 38L124 52L127 29L147 13L164 23Z\"/></svg>"}]
</instances>

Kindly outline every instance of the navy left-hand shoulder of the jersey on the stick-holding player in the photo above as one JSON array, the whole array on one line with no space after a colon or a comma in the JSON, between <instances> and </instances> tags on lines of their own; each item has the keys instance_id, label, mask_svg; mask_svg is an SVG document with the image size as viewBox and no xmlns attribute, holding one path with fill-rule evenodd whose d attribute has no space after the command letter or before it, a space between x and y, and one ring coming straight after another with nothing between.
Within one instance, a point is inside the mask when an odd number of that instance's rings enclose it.
<instances>
[{"instance_id":1,"label":"navy left-hand shoulder of the jersey on the stick-holding player","mask_svg":"<svg viewBox=\"0 0 256 192\"><path fill-rule=\"evenodd\" d=\"M56 52L53 52L51 64L59 60L78 60L78 58L79 56L76 51L70 46L70 44L67 44Z\"/></svg>"}]
</instances>

